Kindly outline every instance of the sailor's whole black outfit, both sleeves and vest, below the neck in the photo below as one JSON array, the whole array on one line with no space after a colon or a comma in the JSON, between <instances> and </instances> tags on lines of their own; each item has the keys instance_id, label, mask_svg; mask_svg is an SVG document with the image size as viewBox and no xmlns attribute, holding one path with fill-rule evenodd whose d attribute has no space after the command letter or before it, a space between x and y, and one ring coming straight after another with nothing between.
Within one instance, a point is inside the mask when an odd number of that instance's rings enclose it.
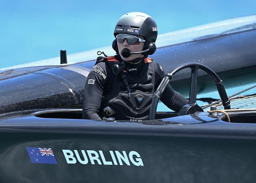
<instances>
[{"instance_id":1,"label":"sailor's whole black outfit, both sleeves and vest, below the neck","mask_svg":"<svg viewBox=\"0 0 256 183\"><path fill-rule=\"evenodd\" d=\"M103 109L115 111L116 120L148 120L153 93L164 77L163 68L150 58L141 59L137 64L124 62L124 72L129 91L120 76L112 73L112 66L122 61L120 56L108 57L97 62L87 76L84 87L83 119L101 120ZM188 103L170 84L166 87L161 101L170 109L179 111Z\"/></svg>"}]
</instances>

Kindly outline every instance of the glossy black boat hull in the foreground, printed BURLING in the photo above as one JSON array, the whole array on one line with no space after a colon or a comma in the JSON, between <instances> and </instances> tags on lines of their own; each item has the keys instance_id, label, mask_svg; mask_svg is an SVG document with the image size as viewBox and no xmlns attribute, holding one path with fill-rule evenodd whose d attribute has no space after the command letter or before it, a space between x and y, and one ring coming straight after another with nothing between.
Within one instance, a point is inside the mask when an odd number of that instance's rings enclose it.
<instances>
[{"instance_id":1,"label":"glossy black boat hull in the foreground, printed BURLING","mask_svg":"<svg viewBox=\"0 0 256 183\"><path fill-rule=\"evenodd\" d=\"M77 111L62 112L77 117ZM0 121L2 182L256 181L255 112L248 113L251 123L246 117L243 123L227 123L208 113L138 123L40 113ZM31 163L26 147L52 148L57 164ZM120 154L124 160L118 161Z\"/></svg>"}]
</instances>

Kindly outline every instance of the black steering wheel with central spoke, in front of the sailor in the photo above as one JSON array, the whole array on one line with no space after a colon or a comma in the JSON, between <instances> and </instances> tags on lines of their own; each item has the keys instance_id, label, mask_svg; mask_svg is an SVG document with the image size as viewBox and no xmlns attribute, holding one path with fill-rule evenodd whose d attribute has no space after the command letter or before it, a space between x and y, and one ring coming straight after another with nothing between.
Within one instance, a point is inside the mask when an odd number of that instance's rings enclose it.
<instances>
[{"instance_id":1,"label":"black steering wheel with central spoke, in front of the sailor","mask_svg":"<svg viewBox=\"0 0 256 183\"><path fill-rule=\"evenodd\" d=\"M162 97L162 94L164 92L164 89L169 84L169 82L172 80L172 77L174 74L179 72L180 70L184 68L191 68L191 82L190 82L190 92L189 92L189 100L188 104L183 106L179 111L180 115L188 115L193 114L196 111L204 112L204 110L196 104L196 86L197 86L197 72L198 69L202 69L205 71L209 76L212 77L212 79L215 82L215 85L217 86L220 99L222 101L222 105L224 106L224 109L230 109L230 101L228 99L228 95L226 93L226 90L222 84L222 80L220 80L219 76L212 71L212 69L204 66L203 64L198 63L184 63L179 65L177 68L175 68L171 73L167 73L162 82L159 84L156 92L153 95L153 99L151 102L150 107L150 113L149 113L149 120L153 120L156 118L156 108L159 99Z\"/></svg>"}]
</instances>

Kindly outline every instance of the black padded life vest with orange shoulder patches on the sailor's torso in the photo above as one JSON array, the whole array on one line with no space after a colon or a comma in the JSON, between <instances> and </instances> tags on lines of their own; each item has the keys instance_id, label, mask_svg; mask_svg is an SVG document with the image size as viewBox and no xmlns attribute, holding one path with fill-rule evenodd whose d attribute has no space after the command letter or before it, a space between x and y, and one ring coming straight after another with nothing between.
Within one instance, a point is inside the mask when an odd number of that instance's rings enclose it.
<instances>
[{"instance_id":1,"label":"black padded life vest with orange shoulder patches on the sailor's torso","mask_svg":"<svg viewBox=\"0 0 256 183\"><path fill-rule=\"evenodd\" d=\"M115 56L101 59L101 61L103 60L110 69L118 61ZM116 120L148 120L151 101L155 92L154 65L152 59L146 58L139 76L132 77L129 73L126 74L130 91L127 91L119 76L112 74L112 90L102 97L100 111L108 106L115 111Z\"/></svg>"}]
</instances>

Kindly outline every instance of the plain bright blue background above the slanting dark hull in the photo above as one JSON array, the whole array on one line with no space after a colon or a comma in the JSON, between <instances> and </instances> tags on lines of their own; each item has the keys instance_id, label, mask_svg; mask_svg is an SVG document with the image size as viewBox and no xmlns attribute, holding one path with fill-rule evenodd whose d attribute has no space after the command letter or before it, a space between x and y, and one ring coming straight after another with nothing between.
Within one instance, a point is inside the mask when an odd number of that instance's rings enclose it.
<instances>
[{"instance_id":1,"label":"plain bright blue background above the slanting dark hull","mask_svg":"<svg viewBox=\"0 0 256 183\"><path fill-rule=\"evenodd\" d=\"M0 0L0 68L111 45L116 21L134 11L152 16L163 34L256 14L256 1Z\"/></svg>"}]
</instances>

